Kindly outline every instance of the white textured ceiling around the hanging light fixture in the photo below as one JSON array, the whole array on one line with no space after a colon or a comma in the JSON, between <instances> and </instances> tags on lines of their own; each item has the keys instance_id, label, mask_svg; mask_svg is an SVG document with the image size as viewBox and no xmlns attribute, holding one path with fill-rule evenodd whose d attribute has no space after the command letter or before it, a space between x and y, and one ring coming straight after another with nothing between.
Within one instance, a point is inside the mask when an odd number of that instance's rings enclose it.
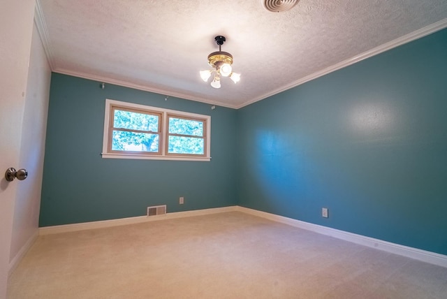
<instances>
[{"instance_id":1,"label":"white textured ceiling around the hanging light fixture","mask_svg":"<svg viewBox=\"0 0 447 299\"><path fill-rule=\"evenodd\" d=\"M281 0L277 0L281 1ZM52 71L240 108L447 27L446 0L37 0ZM200 79L207 55L233 54L236 85Z\"/></svg>"}]
</instances>

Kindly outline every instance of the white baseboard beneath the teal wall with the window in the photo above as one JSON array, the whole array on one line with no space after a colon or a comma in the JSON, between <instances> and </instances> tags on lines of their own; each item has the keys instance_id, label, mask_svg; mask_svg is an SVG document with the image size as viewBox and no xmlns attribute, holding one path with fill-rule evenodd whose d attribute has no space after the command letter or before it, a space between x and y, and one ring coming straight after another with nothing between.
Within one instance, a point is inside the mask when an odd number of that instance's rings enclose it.
<instances>
[{"instance_id":1,"label":"white baseboard beneath the teal wall with the window","mask_svg":"<svg viewBox=\"0 0 447 299\"><path fill-rule=\"evenodd\" d=\"M64 224L58 226L45 226L39 228L39 235L51 235L53 233L68 233L71 231L85 231L87 229L94 228L107 228L112 226L122 226L127 224L139 224L142 222L148 221L158 221L163 219L175 219L182 217L191 217L191 216L202 216L207 214L216 214L221 212L232 212L235 211L236 207L214 207L211 209L204 210L191 210L185 212L173 212L167 213L165 215L158 216L138 216L138 217L129 217L129 218L120 218L120 219L111 219L111 220L103 220L103 221L91 221L91 222L83 222L80 224Z\"/></svg>"}]
</instances>

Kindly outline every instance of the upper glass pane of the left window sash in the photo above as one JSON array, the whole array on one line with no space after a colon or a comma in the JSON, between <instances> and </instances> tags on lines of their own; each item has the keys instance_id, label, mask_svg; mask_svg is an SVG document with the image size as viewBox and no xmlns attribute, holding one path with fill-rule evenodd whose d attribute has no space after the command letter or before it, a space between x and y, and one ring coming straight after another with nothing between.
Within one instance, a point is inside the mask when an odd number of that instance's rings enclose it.
<instances>
[{"instance_id":1,"label":"upper glass pane of the left window sash","mask_svg":"<svg viewBox=\"0 0 447 299\"><path fill-rule=\"evenodd\" d=\"M113 126L117 129L159 131L159 117L145 113L115 110Z\"/></svg>"}]
</instances>

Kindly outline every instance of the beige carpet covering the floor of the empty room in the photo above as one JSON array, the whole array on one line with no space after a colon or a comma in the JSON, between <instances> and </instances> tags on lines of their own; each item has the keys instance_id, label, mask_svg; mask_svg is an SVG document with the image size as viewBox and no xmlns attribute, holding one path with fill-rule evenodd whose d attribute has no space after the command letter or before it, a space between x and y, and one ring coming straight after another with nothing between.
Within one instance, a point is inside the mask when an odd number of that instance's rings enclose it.
<instances>
[{"instance_id":1,"label":"beige carpet covering the floor of the empty room","mask_svg":"<svg viewBox=\"0 0 447 299\"><path fill-rule=\"evenodd\" d=\"M8 298L447 298L447 268L227 212L40 236Z\"/></svg>"}]
</instances>

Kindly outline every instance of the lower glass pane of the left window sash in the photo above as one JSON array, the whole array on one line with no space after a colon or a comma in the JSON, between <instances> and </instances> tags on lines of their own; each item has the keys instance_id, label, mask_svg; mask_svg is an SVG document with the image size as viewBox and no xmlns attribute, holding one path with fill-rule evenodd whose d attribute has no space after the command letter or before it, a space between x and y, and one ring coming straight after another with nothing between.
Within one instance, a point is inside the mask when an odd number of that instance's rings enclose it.
<instances>
[{"instance_id":1,"label":"lower glass pane of the left window sash","mask_svg":"<svg viewBox=\"0 0 447 299\"><path fill-rule=\"evenodd\" d=\"M114 130L112 132L112 150L158 152L159 135Z\"/></svg>"}]
</instances>

